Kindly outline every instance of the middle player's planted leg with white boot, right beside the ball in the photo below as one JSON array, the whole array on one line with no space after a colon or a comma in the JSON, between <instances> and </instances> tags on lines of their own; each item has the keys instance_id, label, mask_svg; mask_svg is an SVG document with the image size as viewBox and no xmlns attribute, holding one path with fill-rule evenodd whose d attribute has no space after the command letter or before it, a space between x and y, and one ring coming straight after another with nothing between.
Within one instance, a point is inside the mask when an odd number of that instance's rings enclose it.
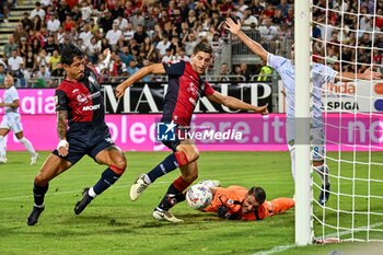
<instances>
[{"instance_id":1,"label":"middle player's planted leg with white boot, right beside the ball","mask_svg":"<svg viewBox=\"0 0 383 255\"><path fill-rule=\"evenodd\" d=\"M173 223L183 220L175 218L169 210L176 204L185 200L185 189L198 177L197 161L181 167L182 175L175 179L167 188L165 196L160 205L154 209L153 217L160 221L170 221Z\"/></svg>"}]
</instances>

